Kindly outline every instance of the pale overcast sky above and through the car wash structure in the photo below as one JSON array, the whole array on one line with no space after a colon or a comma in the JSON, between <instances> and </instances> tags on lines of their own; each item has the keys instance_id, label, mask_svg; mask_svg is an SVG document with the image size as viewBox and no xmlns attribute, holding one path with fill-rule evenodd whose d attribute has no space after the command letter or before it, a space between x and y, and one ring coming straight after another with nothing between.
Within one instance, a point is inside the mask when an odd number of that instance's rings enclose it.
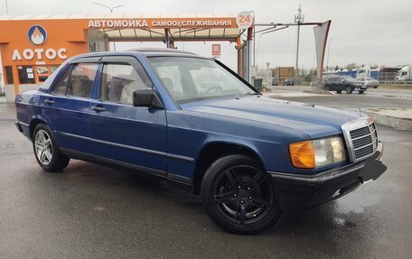
<instances>
[{"instance_id":1,"label":"pale overcast sky above and through the car wash structure","mask_svg":"<svg viewBox=\"0 0 412 259\"><path fill-rule=\"evenodd\" d=\"M104 7L89 0L8 0L9 14L105 14ZM292 23L302 4L304 22L332 20L329 65L348 63L398 66L412 63L411 0L96 0L104 5L124 5L117 14L233 14L253 10L256 23ZM5 0L0 0L0 14L5 14ZM5 32L3 29L0 33ZM295 66L296 28L263 35L256 39L257 64L266 67ZM153 43L160 46L160 43ZM234 44L221 42L221 60L236 68ZM117 44L130 49L140 42ZM211 43L179 42L179 49L211 55ZM326 63L326 60L325 60ZM314 67L314 32L312 26L301 30L299 67Z\"/></svg>"}]
</instances>

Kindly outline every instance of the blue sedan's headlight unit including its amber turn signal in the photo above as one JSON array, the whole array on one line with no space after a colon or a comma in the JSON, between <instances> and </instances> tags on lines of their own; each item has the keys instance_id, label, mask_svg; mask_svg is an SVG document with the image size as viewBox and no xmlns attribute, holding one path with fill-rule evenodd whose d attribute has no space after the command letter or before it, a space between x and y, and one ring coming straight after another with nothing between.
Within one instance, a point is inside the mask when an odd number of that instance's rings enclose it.
<instances>
[{"instance_id":1,"label":"blue sedan's headlight unit including its amber turn signal","mask_svg":"<svg viewBox=\"0 0 412 259\"><path fill-rule=\"evenodd\" d=\"M341 137L330 137L289 144L289 155L293 166L314 169L346 160Z\"/></svg>"}]
</instances>

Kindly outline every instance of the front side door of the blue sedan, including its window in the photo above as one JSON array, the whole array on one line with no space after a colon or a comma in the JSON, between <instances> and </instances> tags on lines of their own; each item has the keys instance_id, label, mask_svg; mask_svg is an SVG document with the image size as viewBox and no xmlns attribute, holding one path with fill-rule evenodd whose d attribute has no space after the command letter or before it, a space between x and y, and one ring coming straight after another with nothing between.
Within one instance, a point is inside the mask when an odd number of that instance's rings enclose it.
<instances>
[{"instance_id":1,"label":"front side door of the blue sedan, including its window","mask_svg":"<svg viewBox=\"0 0 412 259\"><path fill-rule=\"evenodd\" d=\"M104 57L100 75L90 106L95 154L165 176L165 111L133 106L134 90L153 88L145 69L134 57Z\"/></svg>"}]
</instances>

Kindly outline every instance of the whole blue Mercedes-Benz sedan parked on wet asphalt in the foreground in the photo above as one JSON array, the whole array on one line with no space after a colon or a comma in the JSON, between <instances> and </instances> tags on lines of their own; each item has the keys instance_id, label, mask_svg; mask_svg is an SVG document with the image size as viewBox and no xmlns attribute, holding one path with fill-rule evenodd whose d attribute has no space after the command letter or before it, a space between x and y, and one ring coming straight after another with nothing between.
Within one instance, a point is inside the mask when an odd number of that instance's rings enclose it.
<instances>
[{"instance_id":1,"label":"whole blue Mercedes-Benz sedan parked on wet asphalt in the foreground","mask_svg":"<svg viewBox=\"0 0 412 259\"><path fill-rule=\"evenodd\" d=\"M386 170L370 117L264 97L185 51L80 55L15 106L44 171L80 159L181 183L232 233L265 230Z\"/></svg>"}]
</instances>

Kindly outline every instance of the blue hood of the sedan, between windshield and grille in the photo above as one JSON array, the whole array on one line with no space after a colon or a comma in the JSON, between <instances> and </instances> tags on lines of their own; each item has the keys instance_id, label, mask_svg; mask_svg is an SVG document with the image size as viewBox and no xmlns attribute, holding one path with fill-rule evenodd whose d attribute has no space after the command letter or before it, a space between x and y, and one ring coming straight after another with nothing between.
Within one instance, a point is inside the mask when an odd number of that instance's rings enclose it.
<instances>
[{"instance_id":1,"label":"blue hood of the sedan, between windshield and grille","mask_svg":"<svg viewBox=\"0 0 412 259\"><path fill-rule=\"evenodd\" d=\"M356 113L263 96L221 97L181 105L183 110L230 116L303 131L310 138L342 134Z\"/></svg>"}]
</instances>

